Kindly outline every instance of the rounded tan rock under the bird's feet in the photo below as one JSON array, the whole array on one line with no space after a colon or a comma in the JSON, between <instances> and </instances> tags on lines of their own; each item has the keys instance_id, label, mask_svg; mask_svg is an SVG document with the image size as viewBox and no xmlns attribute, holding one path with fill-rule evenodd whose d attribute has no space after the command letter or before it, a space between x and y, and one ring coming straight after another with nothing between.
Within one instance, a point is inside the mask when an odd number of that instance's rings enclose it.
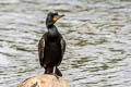
<instances>
[{"instance_id":1,"label":"rounded tan rock under the bird's feet","mask_svg":"<svg viewBox=\"0 0 131 87\"><path fill-rule=\"evenodd\" d=\"M62 77L57 78L53 75L38 75L25 79L14 87L70 87L68 82Z\"/></svg>"}]
</instances>

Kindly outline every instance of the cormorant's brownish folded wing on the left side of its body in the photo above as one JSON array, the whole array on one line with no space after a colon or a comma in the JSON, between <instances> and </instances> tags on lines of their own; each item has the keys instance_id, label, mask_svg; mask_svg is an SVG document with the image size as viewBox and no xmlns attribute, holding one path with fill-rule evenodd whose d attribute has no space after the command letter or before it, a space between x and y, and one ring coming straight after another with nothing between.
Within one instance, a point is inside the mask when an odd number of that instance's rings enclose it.
<instances>
[{"instance_id":1,"label":"cormorant's brownish folded wing on the left side of its body","mask_svg":"<svg viewBox=\"0 0 131 87\"><path fill-rule=\"evenodd\" d=\"M45 39L44 37L41 37L41 39L38 42L38 55L41 66L44 66L44 50L45 50Z\"/></svg>"}]
</instances>

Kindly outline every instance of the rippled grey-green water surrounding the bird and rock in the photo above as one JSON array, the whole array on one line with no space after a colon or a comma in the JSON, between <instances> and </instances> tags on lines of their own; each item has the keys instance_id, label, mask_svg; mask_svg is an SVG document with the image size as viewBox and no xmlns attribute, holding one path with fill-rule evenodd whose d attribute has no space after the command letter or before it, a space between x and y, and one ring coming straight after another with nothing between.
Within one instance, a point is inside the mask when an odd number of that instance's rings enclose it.
<instances>
[{"instance_id":1,"label":"rippled grey-green water surrounding the bird and rock","mask_svg":"<svg viewBox=\"0 0 131 87\"><path fill-rule=\"evenodd\" d=\"M130 0L0 0L0 87L39 75L37 44L56 11L71 87L131 87Z\"/></svg>"}]
</instances>

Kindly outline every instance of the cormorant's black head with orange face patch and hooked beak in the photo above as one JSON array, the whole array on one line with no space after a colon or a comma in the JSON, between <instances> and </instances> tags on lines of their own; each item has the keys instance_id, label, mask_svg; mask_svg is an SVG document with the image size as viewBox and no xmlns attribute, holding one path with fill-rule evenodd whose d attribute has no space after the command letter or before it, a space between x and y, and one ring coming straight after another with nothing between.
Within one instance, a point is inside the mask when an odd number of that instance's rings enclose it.
<instances>
[{"instance_id":1,"label":"cormorant's black head with orange face patch and hooked beak","mask_svg":"<svg viewBox=\"0 0 131 87\"><path fill-rule=\"evenodd\" d=\"M57 12L56 13L49 12L46 18L46 25L52 26L62 16L64 15L59 15Z\"/></svg>"}]
</instances>

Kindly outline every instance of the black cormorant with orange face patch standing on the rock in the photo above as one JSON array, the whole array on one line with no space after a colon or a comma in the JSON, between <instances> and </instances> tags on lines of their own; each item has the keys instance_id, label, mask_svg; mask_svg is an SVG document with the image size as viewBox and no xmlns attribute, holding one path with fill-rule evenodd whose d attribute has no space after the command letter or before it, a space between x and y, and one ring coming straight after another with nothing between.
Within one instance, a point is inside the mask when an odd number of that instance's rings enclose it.
<instances>
[{"instance_id":1,"label":"black cormorant with orange face patch standing on the rock","mask_svg":"<svg viewBox=\"0 0 131 87\"><path fill-rule=\"evenodd\" d=\"M58 13L48 13L46 27L48 32L43 35L38 44L38 54L40 65L45 69L45 74L62 76L58 66L60 65L66 51L66 40L53 25L60 17Z\"/></svg>"}]
</instances>

